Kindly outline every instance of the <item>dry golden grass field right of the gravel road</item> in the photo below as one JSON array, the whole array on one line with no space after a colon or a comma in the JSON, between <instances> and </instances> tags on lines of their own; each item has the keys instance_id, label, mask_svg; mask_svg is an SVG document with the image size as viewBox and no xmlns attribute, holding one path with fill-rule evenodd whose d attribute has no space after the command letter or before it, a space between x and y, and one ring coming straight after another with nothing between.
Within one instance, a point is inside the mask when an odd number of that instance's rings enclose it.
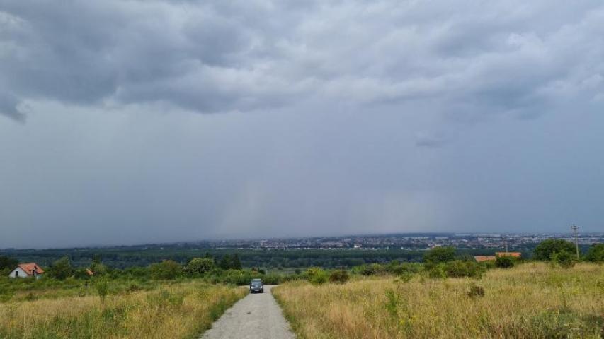
<instances>
[{"instance_id":1,"label":"dry golden grass field right of the gravel road","mask_svg":"<svg viewBox=\"0 0 604 339\"><path fill-rule=\"evenodd\" d=\"M274 295L299 338L604 338L604 266L596 264L526 263L480 280L296 282Z\"/></svg>"}]
</instances>

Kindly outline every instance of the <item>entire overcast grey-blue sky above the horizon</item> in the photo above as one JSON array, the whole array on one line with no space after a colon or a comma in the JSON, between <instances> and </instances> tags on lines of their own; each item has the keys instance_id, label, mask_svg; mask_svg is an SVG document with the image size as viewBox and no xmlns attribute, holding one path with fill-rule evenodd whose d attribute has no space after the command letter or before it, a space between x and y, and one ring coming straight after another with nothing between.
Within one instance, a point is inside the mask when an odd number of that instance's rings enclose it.
<instances>
[{"instance_id":1,"label":"entire overcast grey-blue sky above the horizon","mask_svg":"<svg viewBox=\"0 0 604 339\"><path fill-rule=\"evenodd\" d=\"M0 248L603 206L601 0L0 0Z\"/></svg>"}]
</instances>

